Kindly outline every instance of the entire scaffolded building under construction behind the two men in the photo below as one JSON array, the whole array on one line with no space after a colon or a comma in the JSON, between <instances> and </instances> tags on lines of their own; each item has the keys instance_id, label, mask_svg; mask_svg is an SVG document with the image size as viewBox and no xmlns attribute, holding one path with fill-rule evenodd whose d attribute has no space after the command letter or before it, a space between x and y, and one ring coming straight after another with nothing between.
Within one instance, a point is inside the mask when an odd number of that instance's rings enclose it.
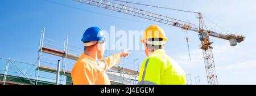
<instances>
[{"instance_id":1,"label":"entire scaffolded building under construction behind the two men","mask_svg":"<svg viewBox=\"0 0 256 96\"><path fill-rule=\"evenodd\" d=\"M41 32L38 59L35 64L19 62L13 59L1 58L0 84L20 85L72 85L71 69L79 59L83 49L68 45L68 36L64 42L44 37L45 28ZM105 57L112 55L106 50ZM28 69L27 69L28 68ZM111 84L137 84L139 62L126 62L121 59L107 72Z\"/></svg>"}]
</instances>

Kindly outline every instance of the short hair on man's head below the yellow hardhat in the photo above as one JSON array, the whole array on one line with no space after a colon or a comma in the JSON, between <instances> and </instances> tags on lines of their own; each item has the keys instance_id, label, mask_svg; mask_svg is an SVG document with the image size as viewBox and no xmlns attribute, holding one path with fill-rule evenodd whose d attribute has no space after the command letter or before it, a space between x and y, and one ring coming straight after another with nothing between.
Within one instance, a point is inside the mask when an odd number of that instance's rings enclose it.
<instances>
[{"instance_id":1,"label":"short hair on man's head below the yellow hardhat","mask_svg":"<svg viewBox=\"0 0 256 96\"><path fill-rule=\"evenodd\" d=\"M163 38L148 38L148 41L163 41ZM155 51L158 49L163 49L163 45L150 45L146 43L148 50Z\"/></svg>"}]
</instances>

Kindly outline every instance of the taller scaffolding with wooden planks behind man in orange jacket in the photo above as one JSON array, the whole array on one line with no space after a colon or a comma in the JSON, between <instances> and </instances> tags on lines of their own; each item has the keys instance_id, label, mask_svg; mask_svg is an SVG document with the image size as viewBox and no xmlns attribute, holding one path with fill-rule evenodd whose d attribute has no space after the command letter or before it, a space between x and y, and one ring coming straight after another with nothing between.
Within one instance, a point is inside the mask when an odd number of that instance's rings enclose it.
<instances>
[{"instance_id":1,"label":"taller scaffolding with wooden planks behind man in orange jacket","mask_svg":"<svg viewBox=\"0 0 256 96\"><path fill-rule=\"evenodd\" d=\"M64 43L45 37L45 30L46 29L43 28L41 31L35 84L38 83L40 71L50 73L57 72L56 62L60 58L62 59L60 69L60 84L72 84L70 71L73 64L75 64L76 60L79 59L83 50L80 47L68 45L68 36L64 38ZM109 56L113 55L110 50L106 50L106 54L109 54ZM56 58L53 58L53 56ZM106 55L104 57L106 57ZM126 62L125 58L122 58L121 64L116 64L116 66L112 67L107 72L110 81L121 84L137 84L139 75L138 60L138 58L134 59L134 63L131 63ZM130 66L133 64L134 66Z\"/></svg>"}]
</instances>

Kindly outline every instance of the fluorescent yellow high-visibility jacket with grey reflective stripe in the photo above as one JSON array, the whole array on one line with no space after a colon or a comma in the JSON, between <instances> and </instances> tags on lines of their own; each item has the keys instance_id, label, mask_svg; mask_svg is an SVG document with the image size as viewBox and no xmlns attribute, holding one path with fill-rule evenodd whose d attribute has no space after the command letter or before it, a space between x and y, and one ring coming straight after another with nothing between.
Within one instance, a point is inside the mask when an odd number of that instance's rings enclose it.
<instances>
[{"instance_id":1,"label":"fluorescent yellow high-visibility jacket with grey reflective stripe","mask_svg":"<svg viewBox=\"0 0 256 96\"><path fill-rule=\"evenodd\" d=\"M183 69L163 49L154 51L141 65L139 85L185 85Z\"/></svg>"}]
</instances>

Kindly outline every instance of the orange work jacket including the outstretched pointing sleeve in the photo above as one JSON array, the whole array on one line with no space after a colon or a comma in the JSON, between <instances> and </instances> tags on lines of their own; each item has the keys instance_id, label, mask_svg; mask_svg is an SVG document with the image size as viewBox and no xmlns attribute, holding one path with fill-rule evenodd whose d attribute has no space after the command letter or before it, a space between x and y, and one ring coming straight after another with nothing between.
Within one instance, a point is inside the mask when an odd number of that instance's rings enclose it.
<instances>
[{"instance_id":1,"label":"orange work jacket including the outstretched pointing sleeve","mask_svg":"<svg viewBox=\"0 0 256 96\"><path fill-rule=\"evenodd\" d=\"M110 85L106 71L119 62L120 54L109 56L98 62L90 56L82 54L72 68L71 77L73 84Z\"/></svg>"}]
</instances>

